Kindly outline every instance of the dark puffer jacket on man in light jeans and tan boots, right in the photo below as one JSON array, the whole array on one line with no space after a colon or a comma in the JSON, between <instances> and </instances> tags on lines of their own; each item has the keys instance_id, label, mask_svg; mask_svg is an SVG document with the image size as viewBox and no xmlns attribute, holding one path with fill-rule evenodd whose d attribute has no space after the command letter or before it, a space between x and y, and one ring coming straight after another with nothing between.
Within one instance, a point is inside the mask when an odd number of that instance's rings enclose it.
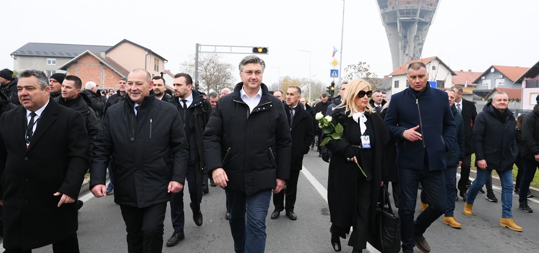
<instances>
[{"instance_id":1,"label":"dark puffer jacket on man in light jeans and tan boots, right","mask_svg":"<svg viewBox=\"0 0 539 253\"><path fill-rule=\"evenodd\" d=\"M475 166L478 160L487 161L487 170L512 170L519 149L516 146L515 117L509 109L503 111L506 121L502 122L492 103L487 103L483 111L475 117L473 142Z\"/></svg>"}]
</instances>

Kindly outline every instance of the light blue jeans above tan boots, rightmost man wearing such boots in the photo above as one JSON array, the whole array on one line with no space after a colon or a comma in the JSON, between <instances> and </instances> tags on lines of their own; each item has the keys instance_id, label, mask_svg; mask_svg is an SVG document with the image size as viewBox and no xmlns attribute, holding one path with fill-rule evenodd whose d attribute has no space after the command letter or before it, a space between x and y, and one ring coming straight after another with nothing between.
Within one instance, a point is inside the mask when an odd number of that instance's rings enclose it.
<instances>
[{"instance_id":1,"label":"light blue jeans above tan boots, rightmost man wearing such boots","mask_svg":"<svg viewBox=\"0 0 539 253\"><path fill-rule=\"evenodd\" d=\"M498 171L500 181L502 183L502 218L512 218L513 213L511 207L513 206L513 170ZM468 198L466 203L473 205L475 198L479 192L479 189L485 185L488 178L492 177L492 170L477 169L477 177L468 191Z\"/></svg>"}]
</instances>

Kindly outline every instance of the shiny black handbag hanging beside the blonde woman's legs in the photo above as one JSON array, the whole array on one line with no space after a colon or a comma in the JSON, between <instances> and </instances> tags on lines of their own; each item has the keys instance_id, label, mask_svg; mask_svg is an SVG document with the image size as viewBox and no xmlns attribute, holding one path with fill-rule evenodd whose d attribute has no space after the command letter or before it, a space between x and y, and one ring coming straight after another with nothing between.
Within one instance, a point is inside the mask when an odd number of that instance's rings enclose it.
<instances>
[{"instance_id":1,"label":"shiny black handbag hanging beside the blonde woman's legs","mask_svg":"<svg viewBox=\"0 0 539 253\"><path fill-rule=\"evenodd\" d=\"M380 189L379 200L375 214L376 233L370 243L381 252L397 253L400 251L400 217L391 208L385 185Z\"/></svg>"}]
</instances>

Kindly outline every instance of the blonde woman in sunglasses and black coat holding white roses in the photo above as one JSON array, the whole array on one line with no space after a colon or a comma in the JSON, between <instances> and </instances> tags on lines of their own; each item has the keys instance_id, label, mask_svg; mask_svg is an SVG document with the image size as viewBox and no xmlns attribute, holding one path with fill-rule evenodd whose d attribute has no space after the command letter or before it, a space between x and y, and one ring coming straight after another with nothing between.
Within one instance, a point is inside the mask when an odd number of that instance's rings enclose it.
<instances>
[{"instance_id":1,"label":"blonde woman in sunglasses and black coat holding white roses","mask_svg":"<svg viewBox=\"0 0 539 253\"><path fill-rule=\"evenodd\" d=\"M371 86L363 79L348 82L345 100L330 114L333 123L343 125L344 140L331 139L328 173L328 204L331 245L341 250L340 238L350 233L353 252L367 247L375 230L375 209L380 187L387 180L384 147L388 127L369 104ZM324 136L325 137L325 136ZM356 164L357 163L357 164ZM358 165L364 171L365 177Z\"/></svg>"}]
</instances>

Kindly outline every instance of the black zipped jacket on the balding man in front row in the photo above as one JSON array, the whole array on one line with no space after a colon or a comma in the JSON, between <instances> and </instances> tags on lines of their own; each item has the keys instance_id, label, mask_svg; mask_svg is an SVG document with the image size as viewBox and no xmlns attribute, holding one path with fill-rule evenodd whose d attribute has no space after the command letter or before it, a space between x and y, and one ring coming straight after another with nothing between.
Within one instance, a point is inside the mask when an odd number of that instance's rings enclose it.
<instances>
[{"instance_id":1,"label":"black zipped jacket on the balding man in front row","mask_svg":"<svg viewBox=\"0 0 539 253\"><path fill-rule=\"evenodd\" d=\"M105 184L112 155L114 202L142 208L169 201L170 181L184 183L188 144L172 104L149 96L136 116L133 108L126 96L108 109L96 142L90 188Z\"/></svg>"}]
</instances>

